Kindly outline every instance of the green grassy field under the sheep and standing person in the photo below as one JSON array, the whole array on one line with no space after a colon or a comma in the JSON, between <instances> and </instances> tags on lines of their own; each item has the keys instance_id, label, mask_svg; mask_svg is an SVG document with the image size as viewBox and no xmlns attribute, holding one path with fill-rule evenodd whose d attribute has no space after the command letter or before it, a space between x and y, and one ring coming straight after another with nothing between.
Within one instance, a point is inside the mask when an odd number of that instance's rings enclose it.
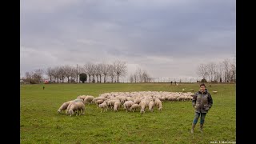
<instances>
[{"instance_id":1,"label":"green grassy field under the sheep and standing person","mask_svg":"<svg viewBox=\"0 0 256 144\"><path fill-rule=\"evenodd\" d=\"M46 89L42 90L42 86ZM86 105L86 114L58 114L58 107L81 94L93 95L118 91L182 91L199 89L199 84L170 86L150 84L38 84L21 85L21 143L210 143L236 141L235 84L206 85L213 107L206 114L204 132L199 123L190 133L194 118L191 102L163 102L163 110L154 108L145 114L119 110L100 113L96 105Z\"/></svg>"}]
</instances>

